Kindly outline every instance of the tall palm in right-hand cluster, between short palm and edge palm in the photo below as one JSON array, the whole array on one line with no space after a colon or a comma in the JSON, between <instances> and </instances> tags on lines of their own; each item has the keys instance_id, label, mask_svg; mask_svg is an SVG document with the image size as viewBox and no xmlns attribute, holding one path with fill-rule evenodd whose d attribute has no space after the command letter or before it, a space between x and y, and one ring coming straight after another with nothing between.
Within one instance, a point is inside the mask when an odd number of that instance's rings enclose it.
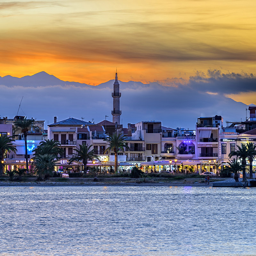
<instances>
[{"instance_id":1,"label":"tall palm in right-hand cluster, between short palm and edge palm","mask_svg":"<svg viewBox=\"0 0 256 256\"><path fill-rule=\"evenodd\" d=\"M248 143L242 144L241 147L237 146L238 149L235 151L231 151L229 153L229 158L232 156L236 156L241 160L242 166L243 166L243 181L247 181L246 179L246 158L249 158L250 156L254 157L256 156L256 150L252 147L248 147Z\"/></svg>"}]
</instances>

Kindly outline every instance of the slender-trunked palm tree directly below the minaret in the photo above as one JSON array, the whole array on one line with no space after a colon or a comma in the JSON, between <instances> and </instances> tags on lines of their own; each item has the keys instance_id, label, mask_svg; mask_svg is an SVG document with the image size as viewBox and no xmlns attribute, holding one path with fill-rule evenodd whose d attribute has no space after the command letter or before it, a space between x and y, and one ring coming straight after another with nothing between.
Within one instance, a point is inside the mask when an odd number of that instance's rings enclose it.
<instances>
[{"instance_id":1,"label":"slender-trunked palm tree directly below the minaret","mask_svg":"<svg viewBox=\"0 0 256 256\"><path fill-rule=\"evenodd\" d=\"M130 148L125 145L126 137L122 136L122 134L113 133L113 135L108 135L108 138L104 139L109 143L108 148L105 152L114 151L115 153L115 172L117 172L117 152L121 149L124 152L124 148L130 150Z\"/></svg>"}]
</instances>

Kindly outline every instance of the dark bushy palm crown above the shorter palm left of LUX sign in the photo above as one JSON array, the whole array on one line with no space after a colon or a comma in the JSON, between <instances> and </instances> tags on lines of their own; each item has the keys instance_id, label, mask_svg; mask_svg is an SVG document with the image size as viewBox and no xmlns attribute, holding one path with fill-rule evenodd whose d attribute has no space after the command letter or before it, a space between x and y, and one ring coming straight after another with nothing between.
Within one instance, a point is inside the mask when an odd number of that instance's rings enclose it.
<instances>
[{"instance_id":1,"label":"dark bushy palm crown above the shorter palm left of LUX sign","mask_svg":"<svg viewBox=\"0 0 256 256\"><path fill-rule=\"evenodd\" d=\"M63 149L60 148L59 141L44 140L41 141L39 144L40 145L38 145L36 149L33 150L33 152L35 152L35 155L49 154L55 156L56 159L59 159L60 156L63 155Z\"/></svg>"}]
</instances>

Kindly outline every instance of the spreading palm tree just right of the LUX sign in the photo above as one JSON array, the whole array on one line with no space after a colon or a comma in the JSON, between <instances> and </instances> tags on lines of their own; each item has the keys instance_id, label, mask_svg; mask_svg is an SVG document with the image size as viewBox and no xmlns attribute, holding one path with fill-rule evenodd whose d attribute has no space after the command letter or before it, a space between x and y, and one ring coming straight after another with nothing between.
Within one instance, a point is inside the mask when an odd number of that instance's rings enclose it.
<instances>
[{"instance_id":1,"label":"spreading palm tree just right of the LUX sign","mask_svg":"<svg viewBox=\"0 0 256 256\"><path fill-rule=\"evenodd\" d=\"M73 161L82 162L83 171L86 173L88 160L92 161L93 159L100 159L99 156L95 155L94 149L90 150L91 147L92 145L89 146L88 144L79 144L79 148L76 147L74 149L77 153L74 153L75 156L69 160L69 163Z\"/></svg>"}]
</instances>

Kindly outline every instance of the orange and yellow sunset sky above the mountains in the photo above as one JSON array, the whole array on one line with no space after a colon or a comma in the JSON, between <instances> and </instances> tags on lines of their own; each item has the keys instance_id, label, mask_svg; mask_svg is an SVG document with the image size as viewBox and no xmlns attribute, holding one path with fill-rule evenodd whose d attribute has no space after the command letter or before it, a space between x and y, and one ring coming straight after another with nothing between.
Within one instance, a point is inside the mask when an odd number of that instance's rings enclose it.
<instances>
[{"instance_id":1,"label":"orange and yellow sunset sky above the mountains","mask_svg":"<svg viewBox=\"0 0 256 256\"><path fill-rule=\"evenodd\" d=\"M172 85L197 70L254 74L255 10L253 0L1 1L0 76L97 85L117 67L122 81Z\"/></svg>"}]
</instances>

